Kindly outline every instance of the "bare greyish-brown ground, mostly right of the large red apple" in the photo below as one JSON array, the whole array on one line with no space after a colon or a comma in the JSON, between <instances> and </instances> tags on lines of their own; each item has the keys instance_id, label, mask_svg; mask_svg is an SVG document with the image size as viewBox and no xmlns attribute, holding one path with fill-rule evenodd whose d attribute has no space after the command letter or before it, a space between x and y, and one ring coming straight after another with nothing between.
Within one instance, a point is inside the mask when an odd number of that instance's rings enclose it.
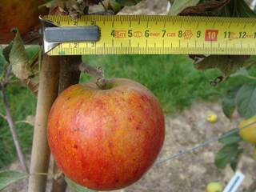
<instances>
[{"instance_id":1,"label":"bare greyish-brown ground, mostly right of the large red apple","mask_svg":"<svg viewBox=\"0 0 256 192\"><path fill-rule=\"evenodd\" d=\"M210 111L218 114L218 122L215 124L206 121ZM236 127L237 122L238 120L230 122L222 114L219 103L195 103L190 110L168 115L166 139L159 158L166 158L178 153L179 150L188 149L199 142L218 136ZM246 152L239 163L239 170L246 175L246 179L238 192L246 191L246 188L256 180L253 149L250 145L245 145ZM230 167L220 171L214 166L214 154L219 148L218 142L214 142L194 154L185 154L180 158L153 166L139 182L122 192L204 192L208 182L219 181L225 185L234 173ZM10 165L10 169L18 169L18 163L14 162ZM11 186L3 192L25 192L25 189L26 181Z\"/></svg>"}]
</instances>

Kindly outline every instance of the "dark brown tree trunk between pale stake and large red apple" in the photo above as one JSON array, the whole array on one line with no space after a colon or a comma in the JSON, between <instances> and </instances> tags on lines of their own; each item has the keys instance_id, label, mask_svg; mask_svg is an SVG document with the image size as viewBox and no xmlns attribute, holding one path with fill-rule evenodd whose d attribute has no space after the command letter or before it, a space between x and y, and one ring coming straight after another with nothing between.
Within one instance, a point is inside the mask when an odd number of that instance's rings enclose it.
<instances>
[{"instance_id":1,"label":"dark brown tree trunk between pale stake and large red apple","mask_svg":"<svg viewBox=\"0 0 256 192\"><path fill-rule=\"evenodd\" d=\"M62 56L59 75L58 93L62 93L67 87L77 84L80 79L78 66L82 63L82 56ZM58 174L58 166L54 162L54 175ZM53 181L52 192L66 191L66 182L63 177Z\"/></svg>"}]
</instances>

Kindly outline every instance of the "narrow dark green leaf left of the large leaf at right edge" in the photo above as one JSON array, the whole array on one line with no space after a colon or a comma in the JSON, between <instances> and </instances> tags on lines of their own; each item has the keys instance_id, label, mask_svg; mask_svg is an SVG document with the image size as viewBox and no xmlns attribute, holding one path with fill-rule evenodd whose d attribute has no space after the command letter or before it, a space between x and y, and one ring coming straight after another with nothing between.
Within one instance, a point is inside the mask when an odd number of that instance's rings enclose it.
<instances>
[{"instance_id":1,"label":"narrow dark green leaf left of the large leaf at right edge","mask_svg":"<svg viewBox=\"0 0 256 192\"><path fill-rule=\"evenodd\" d=\"M231 86L222 101L222 111L227 118L232 118L236 108L236 95L241 86Z\"/></svg>"}]
</instances>

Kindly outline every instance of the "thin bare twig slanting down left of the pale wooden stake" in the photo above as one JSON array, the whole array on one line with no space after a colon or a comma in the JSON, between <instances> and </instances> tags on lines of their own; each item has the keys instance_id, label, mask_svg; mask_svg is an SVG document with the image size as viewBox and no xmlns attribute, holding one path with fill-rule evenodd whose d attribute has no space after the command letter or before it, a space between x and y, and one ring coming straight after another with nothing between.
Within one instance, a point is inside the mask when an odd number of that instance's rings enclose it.
<instances>
[{"instance_id":1,"label":"thin bare twig slanting down left of the pale wooden stake","mask_svg":"<svg viewBox=\"0 0 256 192\"><path fill-rule=\"evenodd\" d=\"M16 130L15 130L15 127L14 127L13 118L11 117L11 114L10 114L10 106L7 102L6 91L5 91L4 86L1 86L1 94L2 94L3 106L6 110L6 121L8 122L8 125L10 127L10 132L11 132L12 137L14 139L14 146L15 146L16 152L18 154L18 159L21 162L22 170L26 171L26 173L29 173L29 170L26 166L24 155L22 154L21 146L18 142L18 136L17 136Z\"/></svg>"}]
</instances>

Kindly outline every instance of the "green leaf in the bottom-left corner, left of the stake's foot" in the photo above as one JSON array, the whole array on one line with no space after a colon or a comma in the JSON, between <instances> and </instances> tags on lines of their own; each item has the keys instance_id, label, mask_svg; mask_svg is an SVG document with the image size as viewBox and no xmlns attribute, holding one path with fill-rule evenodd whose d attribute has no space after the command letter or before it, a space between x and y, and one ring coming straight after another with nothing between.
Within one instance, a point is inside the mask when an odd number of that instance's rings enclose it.
<instances>
[{"instance_id":1,"label":"green leaf in the bottom-left corner, left of the stake's foot","mask_svg":"<svg viewBox=\"0 0 256 192\"><path fill-rule=\"evenodd\" d=\"M28 174L14 170L0 171L0 190L3 190L6 186L10 186L10 184L13 184L14 182L27 178L28 176Z\"/></svg>"}]
</instances>

